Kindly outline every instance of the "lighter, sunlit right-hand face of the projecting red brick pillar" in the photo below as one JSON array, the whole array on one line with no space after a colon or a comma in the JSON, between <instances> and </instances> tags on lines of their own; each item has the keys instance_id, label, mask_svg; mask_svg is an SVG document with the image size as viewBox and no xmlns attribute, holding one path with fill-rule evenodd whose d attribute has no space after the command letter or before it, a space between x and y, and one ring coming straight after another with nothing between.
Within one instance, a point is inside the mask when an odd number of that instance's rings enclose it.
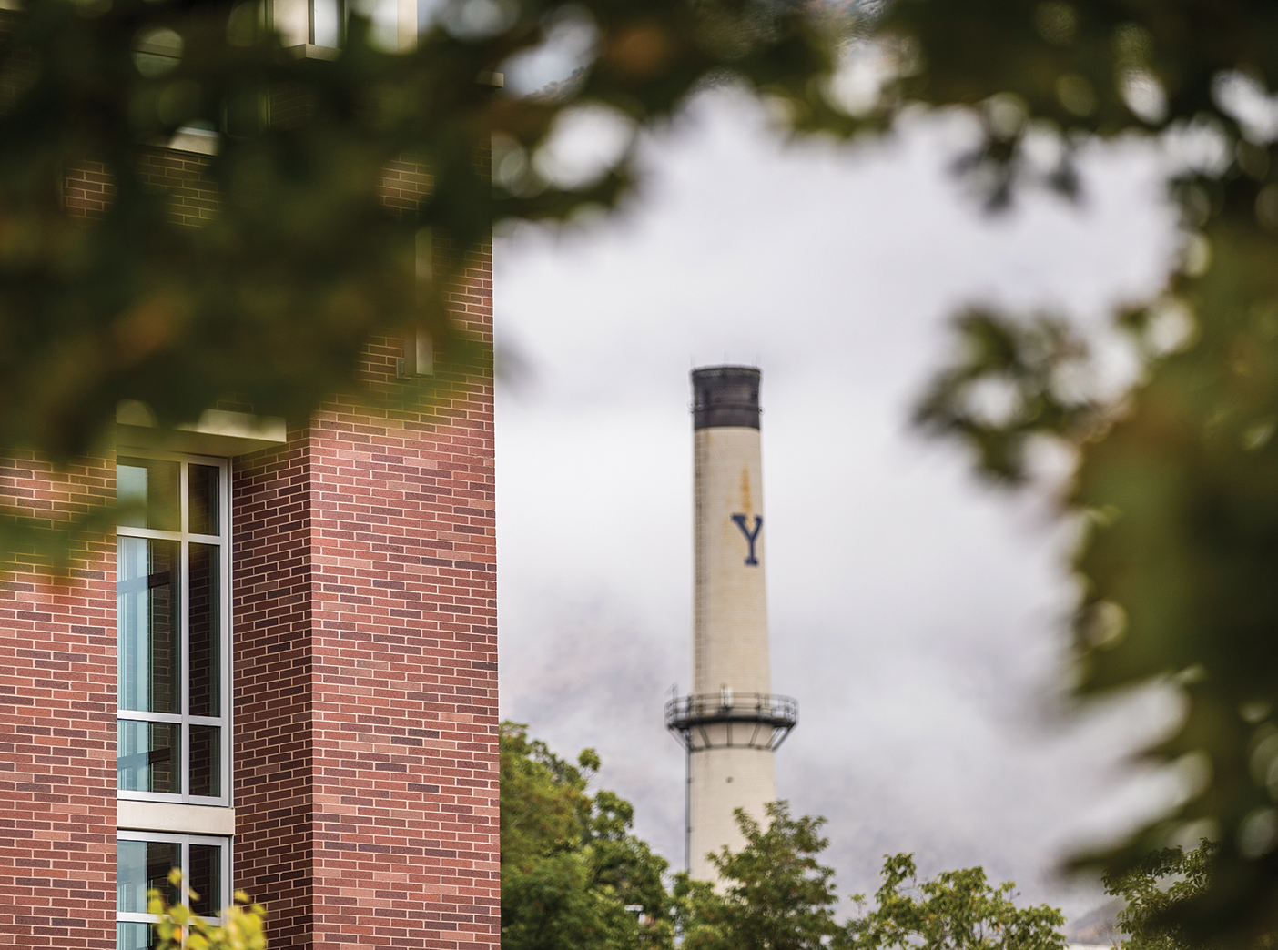
<instances>
[{"instance_id":1,"label":"lighter, sunlit right-hand face of the projecting red brick pillar","mask_svg":"<svg viewBox=\"0 0 1278 950\"><path fill-rule=\"evenodd\" d=\"M491 398L314 425L317 946L500 939Z\"/></svg>"}]
</instances>

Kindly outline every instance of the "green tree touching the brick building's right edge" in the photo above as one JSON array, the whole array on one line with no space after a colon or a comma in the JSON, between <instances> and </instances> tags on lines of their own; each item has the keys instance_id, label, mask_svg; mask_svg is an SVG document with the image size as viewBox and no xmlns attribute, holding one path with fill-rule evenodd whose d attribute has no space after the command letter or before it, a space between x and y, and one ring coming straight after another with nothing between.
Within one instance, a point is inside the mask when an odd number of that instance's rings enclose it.
<instances>
[{"instance_id":1,"label":"green tree touching the brick building's right edge","mask_svg":"<svg viewBox=\"0 0 1278 950\"><path fill-rule=\"evenodd\" d=\"M501 941L515 950L672 946L667 862L630 834L630 804L590 795L599 758L571 765L528 728L501 729Z\"/></svg>"}]
</instances>

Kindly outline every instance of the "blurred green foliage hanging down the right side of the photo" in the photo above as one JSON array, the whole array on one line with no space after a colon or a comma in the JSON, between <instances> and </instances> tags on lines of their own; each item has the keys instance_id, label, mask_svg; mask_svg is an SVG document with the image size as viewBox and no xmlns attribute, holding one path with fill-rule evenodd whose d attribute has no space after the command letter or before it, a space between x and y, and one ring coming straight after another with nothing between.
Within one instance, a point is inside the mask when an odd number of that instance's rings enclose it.
<instances>
[{"instance_id":1,"label":"blurred green foliage hanging down the right side of the photo","mask_svg":"<svg viewBox=\"0 0 1278 950\"><path fill-rule=\"evenodd\" d=\"M902 94L982 115L962 174L980 172L992 207L1043 181L1085 194L1071 156L1091 137L1157 135L1180 156L1183 250L1157 299L1116 314L1134 384L1089 387L1095 352L1063 320L971 314L920 420L1003 484L1040 443L1072 455L1077 692L1185 698L1149 750L1183 776L1183 803L1097 857L1121 873L1205 830L1214 873L1162 913L1187 940L1250 945L1278 930L1278 6L900 0L884 22L921 63ZM1026 158L1034 135L1061 146L1051 174Z\"/></svg>"}]
</instances>

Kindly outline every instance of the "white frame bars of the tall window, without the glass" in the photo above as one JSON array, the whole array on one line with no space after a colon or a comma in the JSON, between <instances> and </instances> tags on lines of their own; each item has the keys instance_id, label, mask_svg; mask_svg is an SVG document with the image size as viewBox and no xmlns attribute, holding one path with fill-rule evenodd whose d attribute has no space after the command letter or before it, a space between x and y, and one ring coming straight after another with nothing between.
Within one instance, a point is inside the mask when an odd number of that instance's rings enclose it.
<instances>
[{"instance_id":1,"label":"white frame bars of the tall window, without the glass","mask_svg":"<svg viewBox=\"0 0 1278 950\"><path fill-rule=\"evenodd\" d=\"M219 527L221 531L216 535L199 535L190 534L189 531L161 531L158 529L150 527L127 527L118 525L115 529L116 538L144 538L148 540L164 540L164 541L178 541L180 550L180 604L181 604L181 668L179 673L181 683L181 700L180 700L180 712L141 712L137 710L124 710L116 704L116 721L146 721L146 723L169 723L180 724L181 738L180 738L180 762L179 762L179 778L181 793L171 792L133 792L116 788L116 798L124 798L137 802L173 802L173 803L187 803L187 804L212 804L212 806L230 806L234 797L234 785L231 778L233 766L233 735L234 735L234 710L231 706L231 465L229 458L217 458L210 456L189 455L181 452L158 452L147 448L118 448L116 457L124 458L153 458L157 461L170 461L170 462L184 462L179 469L179 499L180 499L180 516L179 522L183 526L188 525L188 465L207 465L219 469L219 504L217 516L221 522ZM189 626L190 615L188 613L189 605L189 590L190 590L190 544L216 544L219 548L219 569L220 569L220 603L219 603L219 615L222 622L221 636L220 636L220 649L221 654L219 660L221 663L220 675L219 675L219 700L222 715L220 716L193 716L189 712L190 707L190 645L189 645ZM221 741L219 743L219 767L221 769L221 794L217 797L210 795L193 795L189 793L190 785L190 728L192 725L212 725L221 729ZM129 833L134 834L134 833ZM139 839L141 840L141 839ZM169 839L155 839L155 840L169 840Z\"/></svg>"}]
</instances>

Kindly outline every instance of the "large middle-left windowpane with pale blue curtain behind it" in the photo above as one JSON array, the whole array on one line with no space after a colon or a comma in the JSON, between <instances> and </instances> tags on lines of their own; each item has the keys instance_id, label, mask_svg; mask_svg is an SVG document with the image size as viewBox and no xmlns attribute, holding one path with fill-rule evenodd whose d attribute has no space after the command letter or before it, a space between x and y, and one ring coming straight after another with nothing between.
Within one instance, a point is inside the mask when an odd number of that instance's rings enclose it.
<instances>
[{"instance_id":1,"label":"large middle-left windowpane with pale blue curtain behind it","mask_svg":"<svg viewBox=\"0 0 1278 950\"><path fill-rule=\"evenodd\" d=\"M120 709L178 712L181 702L178 541L118 538L115 569Z\"/></svg>"}]
</instances>

